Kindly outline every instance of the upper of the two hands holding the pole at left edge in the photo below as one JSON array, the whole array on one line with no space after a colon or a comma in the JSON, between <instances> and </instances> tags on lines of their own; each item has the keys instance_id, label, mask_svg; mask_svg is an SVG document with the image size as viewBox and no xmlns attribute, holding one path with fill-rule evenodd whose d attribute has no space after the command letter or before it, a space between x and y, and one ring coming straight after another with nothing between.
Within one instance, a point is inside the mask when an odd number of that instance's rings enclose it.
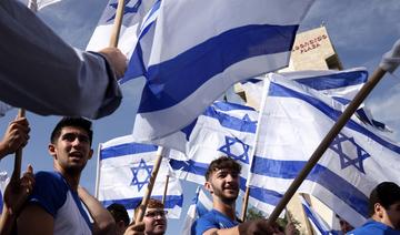
<instances>
[{"instance_id":1,"label":"upper of the two hands holding the pole at left edge","mask_svg":"<svg viewBox=\"0 0 400 235\"><path fill-rule=\"evenodd\" d=\"M26 117L17 117L10 122L3 140L0 142L0 159L27 145L29 132L29 122Z\"/></svg>"}]
</instances>

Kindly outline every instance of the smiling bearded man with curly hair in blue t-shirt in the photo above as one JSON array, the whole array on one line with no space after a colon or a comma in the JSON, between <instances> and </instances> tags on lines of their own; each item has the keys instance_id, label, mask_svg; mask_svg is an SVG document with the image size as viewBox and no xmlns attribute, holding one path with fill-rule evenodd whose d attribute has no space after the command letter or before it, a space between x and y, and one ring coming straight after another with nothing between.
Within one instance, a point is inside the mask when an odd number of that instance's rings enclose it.
<instances>
[{"instance_id":1,"label":"smiling bearded man with curly hair in blue t-shirt","mask_svg":"<svg viewBox=\"0 0 400 235\"><path fill-rule=\"evenodd\" d=\"M236 217L236 200L239 195L241 166L234 160L222 156L211 162L206 173L204 187L212 196L212 210L197 219L192 234L272 234L274 228L266 219L240 223Z\"/></svg>"}]
</instances>

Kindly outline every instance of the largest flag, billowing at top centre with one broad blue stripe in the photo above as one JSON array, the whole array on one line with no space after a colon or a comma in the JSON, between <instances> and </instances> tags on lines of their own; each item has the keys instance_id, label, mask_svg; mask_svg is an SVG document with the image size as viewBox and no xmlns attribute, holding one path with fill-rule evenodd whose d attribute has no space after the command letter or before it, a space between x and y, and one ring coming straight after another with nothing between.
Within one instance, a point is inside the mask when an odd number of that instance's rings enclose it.
<instances>
[{"instance_id":1,"label":"largest flag, billowing at top centre with one broad blue stripe","mask_svg":"<svg viewBox=\"0 0 400 235\"><path fill-rule=\"evenodd\" d=\"M236 82L287 67L313 0L162 0L122 82L147 80L137 142L187 126Z\"/></svg>"}]
</instances>

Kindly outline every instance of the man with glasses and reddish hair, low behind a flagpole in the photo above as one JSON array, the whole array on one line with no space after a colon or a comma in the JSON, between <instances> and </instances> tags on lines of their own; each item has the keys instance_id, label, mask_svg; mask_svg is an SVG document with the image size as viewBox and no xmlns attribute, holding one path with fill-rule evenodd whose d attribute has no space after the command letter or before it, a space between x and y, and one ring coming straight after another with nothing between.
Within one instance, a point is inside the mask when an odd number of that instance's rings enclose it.
<instances>
[{"instance_id":1,"label":"man with glasses and reddish hair, low behind a flagpole","mask_svg":"<svg viewBox=\"0 0 400 235\"><path fill-rule=\"evenodd\" d=\"M139 206L134 210L134 214L138 214ZM143 223L146 235L163 235L166 233L167 211L164 211L164 205L160 201L153 198L149 200Z\"/></svg>"}]
</instances>

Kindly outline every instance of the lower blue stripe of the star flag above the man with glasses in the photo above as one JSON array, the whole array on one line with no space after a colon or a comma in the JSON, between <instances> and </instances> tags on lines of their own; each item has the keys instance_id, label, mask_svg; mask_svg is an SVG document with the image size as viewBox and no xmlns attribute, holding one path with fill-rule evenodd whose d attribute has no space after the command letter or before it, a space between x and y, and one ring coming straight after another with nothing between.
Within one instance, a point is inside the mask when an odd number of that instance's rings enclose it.
<instances>
[{"instance_id":1,"label":"lower blue stripe of the star flag above the man with glasses","mask_svg":"<svg viewBox=\"0 0 400 235\"><path fill-rule=\"evenodd\" d=\"M101 204L107 207L112 203L119 203L123 205L127 210L134 210L142 201L143 197L133 197L133 198L124 198L124 200L107 200L101 201ZM162 200L162 196L151 196L154 200ZM167 195L164 208L173 208L174 206L182 207L183 204L183 195Z\"/></svg>"}]
</instances>

